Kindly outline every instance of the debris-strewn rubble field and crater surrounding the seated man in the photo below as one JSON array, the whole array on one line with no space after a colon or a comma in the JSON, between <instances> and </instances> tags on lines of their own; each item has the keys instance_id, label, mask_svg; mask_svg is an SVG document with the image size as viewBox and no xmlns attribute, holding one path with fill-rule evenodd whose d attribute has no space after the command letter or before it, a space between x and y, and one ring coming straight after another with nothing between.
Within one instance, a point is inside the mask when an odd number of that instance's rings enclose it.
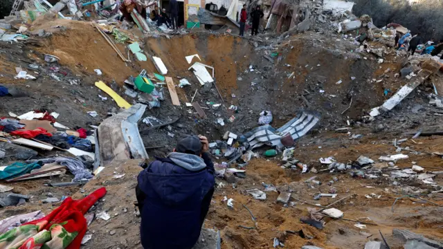
<instances>
[{"instance_id":1,"label":"debris-strewn rubble field and crater surrounding the seated man","mask_svg":"<svg viewBox=\"0 0 443 249\"><path fill-rule=\"evenodd\" d=\"M441 248L443 62L397 49L407 28L347 1L300 1L288 33L251 39L233 35L238 1L185 3L176 30L122 21L118 1L17 2L0 20L0 233L64 210L84 217L73 248L141 248L138 173L200 134L216 185L195 249ZM425 236L397 229L426 215Z\"/></svg>"}]
</instances>

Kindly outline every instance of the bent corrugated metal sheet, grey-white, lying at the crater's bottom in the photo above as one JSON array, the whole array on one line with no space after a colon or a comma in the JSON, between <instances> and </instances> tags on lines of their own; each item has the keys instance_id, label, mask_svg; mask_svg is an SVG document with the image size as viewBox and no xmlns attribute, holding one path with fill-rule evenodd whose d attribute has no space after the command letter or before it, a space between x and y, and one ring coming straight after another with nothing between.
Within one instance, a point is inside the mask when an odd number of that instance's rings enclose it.
<instances>
[{"instance_id":1,"label":"bent corrugated metal sheet, grey-white, lying at the crater's bottom","mask_svg":"<svg viewBox=\"0 0 443 249\"><path fill-rule=\"evenodd\" d=\"M245 133L244 137L246 137L252 148L262 145L272 145L281 148L283 145L280 139L283 136L290 133L293 140L305 136L317 124L318 120L320 120L319 113L315 111L300 111L296 118L291 119L279 129L274 129L271 125L266 124Z\"/></svg>"}]
</instances>

